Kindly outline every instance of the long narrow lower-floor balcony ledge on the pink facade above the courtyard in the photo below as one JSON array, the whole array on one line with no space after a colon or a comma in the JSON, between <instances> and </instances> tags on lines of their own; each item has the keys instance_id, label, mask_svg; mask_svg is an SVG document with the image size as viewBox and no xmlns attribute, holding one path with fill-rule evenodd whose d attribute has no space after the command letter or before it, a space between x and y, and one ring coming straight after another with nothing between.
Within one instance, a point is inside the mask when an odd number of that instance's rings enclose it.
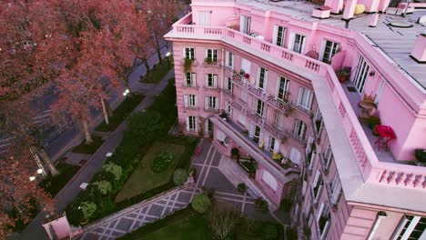
<instances>
[{"instance_id":1,"label":"long narrow lower-floor balcony ledge on the pink facade above the courtyard","mask_svg":"<svg viewBox=\"0 0 426 240\"><path fill-rule=\"evenodd\" d=\"M294 178L299 177L298 167L289 167L284 169L277 162L272 160L272 154L266 150L260 149L249 135L244 135L245 129L227 119L224 120L218 115L210 117L210 121L228 135L236 144L241 146L251 157L253 157L259 164L265 166L269 172L274 173L283 184L288 183Z\"/></svg>"}]
</instances>

